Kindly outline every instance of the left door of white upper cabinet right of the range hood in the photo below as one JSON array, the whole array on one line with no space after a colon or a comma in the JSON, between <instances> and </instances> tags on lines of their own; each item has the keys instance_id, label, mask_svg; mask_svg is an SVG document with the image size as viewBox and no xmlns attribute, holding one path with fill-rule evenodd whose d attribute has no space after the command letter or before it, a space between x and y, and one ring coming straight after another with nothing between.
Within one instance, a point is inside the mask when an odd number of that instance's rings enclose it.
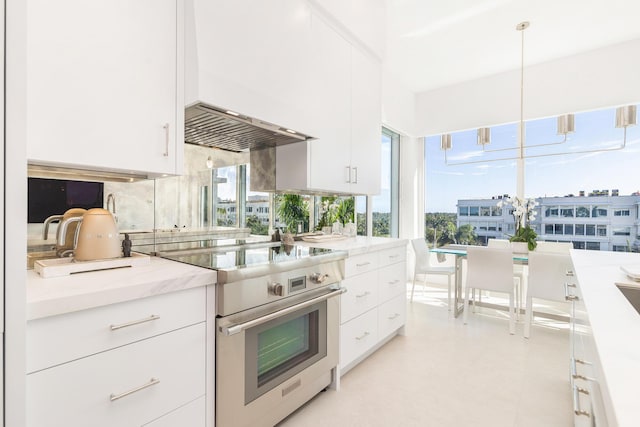
<instances>
[{"instance_id":1,"label":"left door of white upper cabinet right of the range hood","mask_svg":"<svg viewBox=\"0 0 640 427\"><path fill-rule=\"evenodd\" d=\"M349 192L351 162L351 47L316 15L312 16L307 108L314 117L309 131L309 187Z\"/></svg>"}]
</instances>

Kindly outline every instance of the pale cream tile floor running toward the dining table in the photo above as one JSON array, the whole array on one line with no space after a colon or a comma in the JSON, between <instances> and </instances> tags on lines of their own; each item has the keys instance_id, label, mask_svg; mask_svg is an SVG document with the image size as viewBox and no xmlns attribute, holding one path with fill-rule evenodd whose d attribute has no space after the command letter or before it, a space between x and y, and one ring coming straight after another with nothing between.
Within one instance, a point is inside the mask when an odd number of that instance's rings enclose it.
<instances>
[{"instance_id":1,"label":"pale cream tile floor running toward the dining table","mask_svg":"<svg viewBox=\"0 0 640 427\"><path fill-rule=\"evenodd\" d=\"M446 287L417 287L407 326L280 427L573 425L566 323L536 321L509 335L506 313L469 323L446 308Z\"/></svg>"}]
</instances>

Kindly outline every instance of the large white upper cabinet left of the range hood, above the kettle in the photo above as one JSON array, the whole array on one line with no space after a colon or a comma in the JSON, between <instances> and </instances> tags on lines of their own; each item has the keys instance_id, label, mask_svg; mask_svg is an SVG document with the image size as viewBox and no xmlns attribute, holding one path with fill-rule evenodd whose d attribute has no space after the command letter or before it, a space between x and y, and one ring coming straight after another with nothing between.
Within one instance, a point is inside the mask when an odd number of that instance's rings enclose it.
<instances>
[{"instance_id":1,"label":"large white upper cabinet left of the range hood, above the kettle","mask_svg":"<svg viewBox=\"0 0 640 427\"><path fill-rule=\"evenodd\" d=\"M27 158L180 174L183 0L30 0Z\"/></svg>"}]
</instances>

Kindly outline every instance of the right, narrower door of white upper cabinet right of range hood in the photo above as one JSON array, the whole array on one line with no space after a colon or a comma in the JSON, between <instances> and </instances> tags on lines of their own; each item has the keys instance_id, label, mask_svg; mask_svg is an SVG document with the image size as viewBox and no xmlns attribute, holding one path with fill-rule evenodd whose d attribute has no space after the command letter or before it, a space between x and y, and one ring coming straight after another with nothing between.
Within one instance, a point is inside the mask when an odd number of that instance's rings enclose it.
<instances>
[{"instance_id":1,"label":"right, narrower door of white upper cabinet right of range hood","mask_svg":"<svg viewBox=\"0 0 640 427\"><path fill-rule=\"evenodd\" d=\"M380 193L382 101L380 64L351 50L351 192Z\"/></svg>"}]
</instances>

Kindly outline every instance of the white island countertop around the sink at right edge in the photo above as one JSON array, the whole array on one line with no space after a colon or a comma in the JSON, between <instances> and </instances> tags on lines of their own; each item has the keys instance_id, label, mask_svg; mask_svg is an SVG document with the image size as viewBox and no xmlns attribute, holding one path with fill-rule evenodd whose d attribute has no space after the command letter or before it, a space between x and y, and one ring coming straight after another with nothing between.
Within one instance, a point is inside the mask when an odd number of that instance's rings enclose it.
<instances>
[{"instance_id":1,"label":"white island countertop around the sink at right edge","mask_svg":"<svg viewBox=\"0 0 640 427\"><path fill-rule=\"evenodd\" d=\"M574 250L571 254L602 365L608 418L620 426L640 420L640 314L615 286L640 287L620 266L640 266L640 254ZM611 417L613 415L614 417Z\"/></svg>"}]
</instances>

